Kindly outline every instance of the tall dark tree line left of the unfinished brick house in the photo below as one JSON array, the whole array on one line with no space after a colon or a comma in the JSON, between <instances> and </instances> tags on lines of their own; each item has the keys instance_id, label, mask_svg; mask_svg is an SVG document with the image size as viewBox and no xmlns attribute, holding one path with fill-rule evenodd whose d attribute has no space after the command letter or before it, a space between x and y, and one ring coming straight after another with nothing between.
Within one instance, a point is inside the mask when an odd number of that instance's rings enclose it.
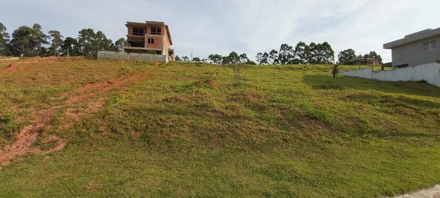
<instances>
[{"instance_id":1,"label":"tall dark tree line left of the unfinished brick house","mask_svg":"<svg viewBox=\"0 0 440 198\"><path fill-rule=\"evenodd\" d=\"M82 29L76 38L61 35L51 30L48 34L41 31L39 24L32 27L21 26L12 35L0 23L0 56L47 57L47 56L86 56L93 57L98 51L122 52L124 38L113 42L102 31L91 28Z\"/></svg>"}]
</instances>

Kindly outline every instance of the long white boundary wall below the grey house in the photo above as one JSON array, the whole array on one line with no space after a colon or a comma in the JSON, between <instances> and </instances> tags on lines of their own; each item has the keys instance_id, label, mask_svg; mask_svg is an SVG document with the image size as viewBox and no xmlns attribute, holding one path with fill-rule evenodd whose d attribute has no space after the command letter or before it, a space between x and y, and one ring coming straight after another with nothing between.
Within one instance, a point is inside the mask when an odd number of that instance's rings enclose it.
<instances>
[{"instance_id":1,"label":"long white boundary wall below the grey house","mask_svg":"<svg viewBox=\"0 0 440 198\"><path fill-rule=\"evenodd\" d=\"M372 67L342 72L344 76L355 76L381 81L421 81L440 87L440 64L429 63L389 71L373 72Z\"/></svg>"}]
</instances>

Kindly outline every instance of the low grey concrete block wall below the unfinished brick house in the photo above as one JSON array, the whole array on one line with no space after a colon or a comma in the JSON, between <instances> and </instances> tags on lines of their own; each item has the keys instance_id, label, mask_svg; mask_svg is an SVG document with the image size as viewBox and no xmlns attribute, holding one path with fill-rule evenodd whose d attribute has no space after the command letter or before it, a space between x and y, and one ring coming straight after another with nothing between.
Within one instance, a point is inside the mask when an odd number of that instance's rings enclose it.
<instances>
[{"instance_id":1,"label":"low grey concrete block wall below the unfinished brick house","mask_svg":"<svg viewBox=\"0 0 440 198\"><path fill-rule=\"evenodd\" d=\"M166 61L165 55L138 54L138 53L122 53L99 51L98 59L123 59L123 60L141 60L141 61Z\"/></svg>"}]
</instances>

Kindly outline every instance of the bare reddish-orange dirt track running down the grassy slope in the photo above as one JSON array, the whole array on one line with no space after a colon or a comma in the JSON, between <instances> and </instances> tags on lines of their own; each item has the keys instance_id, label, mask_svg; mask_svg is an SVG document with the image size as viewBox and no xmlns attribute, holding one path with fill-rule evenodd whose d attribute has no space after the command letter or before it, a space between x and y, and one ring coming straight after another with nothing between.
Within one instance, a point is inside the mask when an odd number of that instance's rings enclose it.
<instances>
[{"instance_id":1,"label":"bare reddish-orange dirt track running down the grassy slope","mask_svg":"<svg viewBox=\"0 0 440 198\"><path fill-rule=\"evenodd\" d=\"M104 101L93 101L91 97L96 93L104 93L112 88L119 87L123 84L134 83L142 77L149 77L147 75L154 68L144 70L141 74L133 74L132 71L128 71L125 75L107 81L99 83L89 83L82 87L76 88L73 91L62 94L62 97L67 97L66 105L74 106L82 102L82 106L85 108L69 107L65 112L65 118L68 118L65 125L62 127L68 127L71 124L78 122L81 117L92 114L104 106ZM73 94L73 96L71 96ZM2 167L10 164L11 160L17 156L25 155L26 153L33 153L37 155L45 155L50 152L57 152L64 148L67 144L67 140L61 139L57 136L50 135L43 139L41 143L57 142L56 146L48 151L41 151L39 149L31 148L31 145L38 139L40 134L49 127L49 119L55 116L55 113L61 110L63 106L54 106L47 110L36 110L34 115L37 119L32 121L31 125L25 126L20 129L17 136L17 140L11 145L4 146L0 150L0 170Z\"/></svg>"}]
</instances>

